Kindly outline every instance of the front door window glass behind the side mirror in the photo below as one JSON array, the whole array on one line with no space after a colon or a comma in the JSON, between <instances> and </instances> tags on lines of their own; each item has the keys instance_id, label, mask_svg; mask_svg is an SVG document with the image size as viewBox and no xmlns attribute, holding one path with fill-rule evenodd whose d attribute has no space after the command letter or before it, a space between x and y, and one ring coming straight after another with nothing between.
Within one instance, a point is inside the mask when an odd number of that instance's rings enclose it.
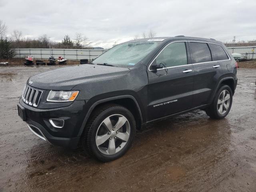
<instances>
[{"instance_id":1,"label":"front door window glass behind the side mirror","mask_svg":"<svg viewBox=\"0 0 256 192\"><path fill-rule=\"evenodd\" d=\"M188 64L185 42L171 43L156 58L156 64L174 67Z\"/></svg>"}]
</instances>

